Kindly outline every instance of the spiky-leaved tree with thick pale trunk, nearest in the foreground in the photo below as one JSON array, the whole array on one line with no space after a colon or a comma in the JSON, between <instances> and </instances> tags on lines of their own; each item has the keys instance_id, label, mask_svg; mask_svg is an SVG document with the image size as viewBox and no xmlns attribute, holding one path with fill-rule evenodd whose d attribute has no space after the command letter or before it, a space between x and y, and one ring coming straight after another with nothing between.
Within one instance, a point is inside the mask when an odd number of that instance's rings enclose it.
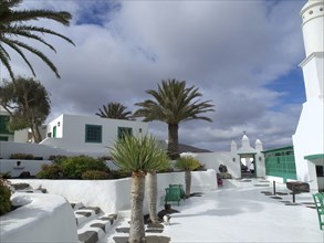
<instances>
[{"instance_id":1,"label":"spiky-leaved tree with thick pale trunk, nearest in the foreground","mask_svg":"<svg viewBox=\"0 0 324 243\"><path fill-rule=\"evenodd\" d=\"M147 171L158 170L167 161L166 151L150 136L125 135L111 149L116 166L132 171L130 231L128 242L145 242L143 201Z\"/></svg>"}]
</instances>

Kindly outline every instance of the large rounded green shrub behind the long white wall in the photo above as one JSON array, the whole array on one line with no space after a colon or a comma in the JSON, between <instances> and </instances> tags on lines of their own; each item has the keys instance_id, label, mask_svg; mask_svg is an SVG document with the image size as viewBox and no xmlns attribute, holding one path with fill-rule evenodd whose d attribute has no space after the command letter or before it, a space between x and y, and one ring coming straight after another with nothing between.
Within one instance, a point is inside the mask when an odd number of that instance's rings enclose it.
<instances>
[{"instance_id":1,"label":"large rounded green shrub behind the long white wall","mask_svg":"<svg viewBox=\"0 0 324 243\"><path fill-rule=\"evenodd\" d=\"M87 156L76 156L64 159L61 162L64 178L81 179L82 173L87 170L100 170L109 172L108 167L103 160L94 159Z\"/></svg>"}]
</instances>

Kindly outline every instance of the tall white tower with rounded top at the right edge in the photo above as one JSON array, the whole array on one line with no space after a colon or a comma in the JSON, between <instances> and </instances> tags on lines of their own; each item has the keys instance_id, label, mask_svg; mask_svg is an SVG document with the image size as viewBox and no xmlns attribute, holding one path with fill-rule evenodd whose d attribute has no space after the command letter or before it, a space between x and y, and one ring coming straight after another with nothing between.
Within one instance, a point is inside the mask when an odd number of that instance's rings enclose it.
<instances>
[{"instance_id":1,"label":"tall white tower with rounded top at the right edge","mask_svg":"<svg viewBox=\"0 0 324 243\"><path fill-rule=\"evenodd\" d=\"M324 0L309 0L301 10L305 46L303 68L306 102L303 104L300 122L293 135L297 180L310 182L317 189L315 165L305 156L324 154Z\"/></svg>"}]
</instances>

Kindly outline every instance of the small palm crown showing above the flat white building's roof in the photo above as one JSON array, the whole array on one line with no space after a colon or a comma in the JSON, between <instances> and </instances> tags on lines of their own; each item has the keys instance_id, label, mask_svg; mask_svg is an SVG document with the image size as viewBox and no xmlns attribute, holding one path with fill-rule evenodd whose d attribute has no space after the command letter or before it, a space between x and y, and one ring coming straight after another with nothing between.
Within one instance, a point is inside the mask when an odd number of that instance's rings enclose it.
<instances>
[{"instance_id":1,"label":"small palm crown showing above the flat white building's roof","mask_svg":"<svg viewBox=\"0 0 324 243\"><path fill-rule=\"evenodd\" d=\"M106 106L103 105L103 109L100 108L100 113L95 115L111 119L132 119L132 113L126 112L126 109L127 107L121 103L111 102Z\"/></svg>"}]
</instances>

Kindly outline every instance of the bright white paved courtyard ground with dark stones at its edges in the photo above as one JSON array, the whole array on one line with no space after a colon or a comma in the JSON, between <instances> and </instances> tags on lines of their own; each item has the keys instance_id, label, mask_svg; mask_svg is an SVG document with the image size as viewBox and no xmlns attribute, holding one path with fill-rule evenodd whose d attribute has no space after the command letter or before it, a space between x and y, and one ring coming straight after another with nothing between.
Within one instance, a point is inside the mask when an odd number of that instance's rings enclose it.
<instances>
[{"instance_id":1,"label":"bright white paved courtyard ground with dark stones at its edges","mask_svg":"<svg viewBox=\"0 0 324 243\"><path fill-rule=\"evenodd\" d=\"M284 184L276 183L276 189L288 192ZM315 209L305 204L285 205L280 201L292 201L292 196L281 196L282 200L279 200L261 191L272 192L272 182L227 180L217 191L181 201L180 207L173 204L173 209L180 213L171 214L171 225L155 235L168 236L174 243L324 242L324 231L318 228ZM302 193L296 196L296 202L313 202L313 199L311 193ZM124 220L116 226L129 224ZM121 235L112 232L106 242L114 242L113 237Z\"/></svg>"}]
</instances>

